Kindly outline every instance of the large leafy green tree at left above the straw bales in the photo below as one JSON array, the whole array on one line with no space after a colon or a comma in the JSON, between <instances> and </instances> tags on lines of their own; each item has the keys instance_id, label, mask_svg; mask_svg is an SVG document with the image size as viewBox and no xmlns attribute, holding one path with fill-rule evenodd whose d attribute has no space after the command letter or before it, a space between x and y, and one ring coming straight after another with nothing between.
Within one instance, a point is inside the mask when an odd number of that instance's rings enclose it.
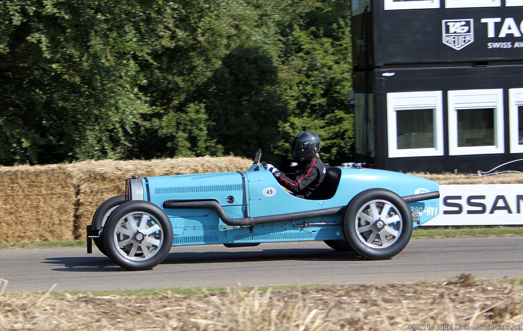
<instances>
[{"instance_id":1,"label":"large leafy green tree at left above the straw bales","mask_svg":"<svg viewBox=\"0 0 523 331\"><path fill-rule=\"evenodd\" d=\"M212 145L202 132L161 122L195 116L187 112L198 107L179 104L234 46L241 23L229 15L233 5L0 2L0 162L151 156L144 140L171 155L217 152L202 147ZM162 144L174 127L200 141L195 150Z\"/></svg>"}]
</instances>

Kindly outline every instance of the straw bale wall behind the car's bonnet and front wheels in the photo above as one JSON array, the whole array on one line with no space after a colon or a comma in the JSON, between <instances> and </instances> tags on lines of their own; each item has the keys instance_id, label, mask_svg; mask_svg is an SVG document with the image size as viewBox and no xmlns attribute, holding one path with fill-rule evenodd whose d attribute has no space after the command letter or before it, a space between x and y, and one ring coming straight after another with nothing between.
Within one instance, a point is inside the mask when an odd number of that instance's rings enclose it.
<instances>
[{"instance_id":1,"label":"straw bale wall behind the car's bonnet and front wheels","mask_svg":"<svg viewBox=\"0 0 523 331\"><path fill-rule=\"evenodd\" d=\"M49 166L0 167L0 242L41 242L84 238L96 208L124 193L124 180L245 170L238 157L134 161L83 161Z\"/></svg>"}]
</instances>

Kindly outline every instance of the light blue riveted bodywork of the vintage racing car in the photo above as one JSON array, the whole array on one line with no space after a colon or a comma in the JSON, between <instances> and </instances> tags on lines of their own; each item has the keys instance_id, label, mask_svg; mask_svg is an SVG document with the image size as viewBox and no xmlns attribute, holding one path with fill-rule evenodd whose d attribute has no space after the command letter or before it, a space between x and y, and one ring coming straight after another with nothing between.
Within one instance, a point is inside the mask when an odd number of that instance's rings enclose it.
<instances>
[{"instance_id":1,"label":"light blue riveted bodywork of the vintage racing car","mask_svg":"<svg viewBox=\"0 0 523 331\"><path fill-rule=\"evenodd\" d=\"M169 200L216 200L230 218L258 217L347 206L358 193L384 188L400 196L436 192L438 184L416 176L354 167L336 167L341 176L336 194L326 200L295 197L261 164L245 172L188 174L142 178L143 199L162 207ZM408 204L414 227L438 214L438 199ZM162 207L163 208L163 207ZM228 226L213 209L164 208L173 225L173 246L344 239L343 214Z\"/></svg>"}]
</instances>

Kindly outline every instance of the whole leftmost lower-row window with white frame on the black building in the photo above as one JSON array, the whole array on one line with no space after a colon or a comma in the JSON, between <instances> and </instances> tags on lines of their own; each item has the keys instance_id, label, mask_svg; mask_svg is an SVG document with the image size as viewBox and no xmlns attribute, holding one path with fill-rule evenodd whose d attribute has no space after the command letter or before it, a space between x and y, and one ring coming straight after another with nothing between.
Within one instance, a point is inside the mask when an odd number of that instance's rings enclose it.
<instances>
[{"instance_id":1,"label":"whole leftmost lower-row window with white frame on the black building","mask_svg":"<svg viewBox=\"0 0 523 331\"><path fill-rule=\"evenodd\" d=\"M389 157L443 155L441 91L387 93Z\"/></svg>"}]
</instances>

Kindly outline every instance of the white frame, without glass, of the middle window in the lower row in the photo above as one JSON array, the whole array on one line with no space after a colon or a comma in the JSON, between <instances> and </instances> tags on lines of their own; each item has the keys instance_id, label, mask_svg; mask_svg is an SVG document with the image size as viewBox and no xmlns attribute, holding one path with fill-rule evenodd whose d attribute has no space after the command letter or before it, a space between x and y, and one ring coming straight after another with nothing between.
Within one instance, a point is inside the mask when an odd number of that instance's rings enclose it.
<instances>
[{"instance_id":1,"label":"white frame, without glass, of the middle window in the lower row","mask_svg":"<svg viewBox=\"0 0 523 331\"><path fill-rule=\"evenodd\" d=\"M494 146L458 147L458 110L494 109ZM503 89L448 91L449 155L499 154L505 152Z\"/></svg>"}]
</instances>

